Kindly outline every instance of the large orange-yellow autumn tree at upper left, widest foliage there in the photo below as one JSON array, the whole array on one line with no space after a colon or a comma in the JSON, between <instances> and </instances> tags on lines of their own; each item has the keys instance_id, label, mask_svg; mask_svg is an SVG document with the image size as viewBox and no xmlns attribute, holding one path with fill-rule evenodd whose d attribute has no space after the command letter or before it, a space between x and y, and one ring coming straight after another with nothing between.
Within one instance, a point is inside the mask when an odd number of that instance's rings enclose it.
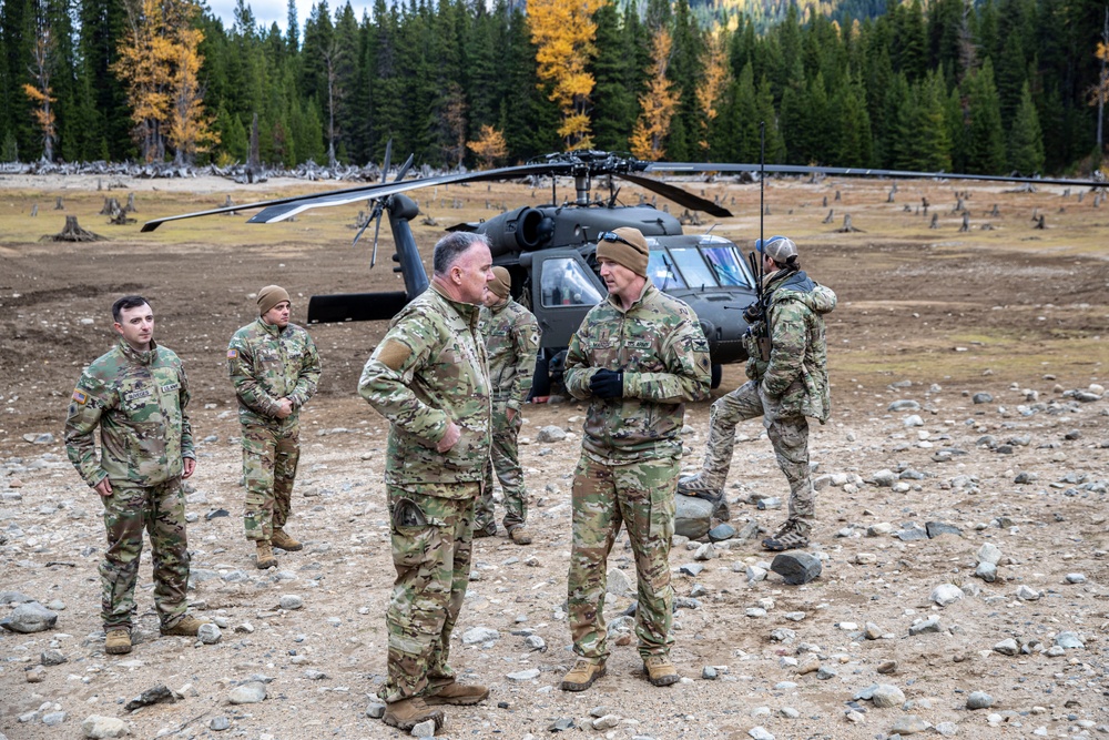
<instances>
[{"instance_id":1,"label":"large orange-yellow autumn tree at upper left, widest foliage there","mask_svg":"<svg viewBox=\"0 0 1109 740\"><path fill-rule=\"evenodd\" d=\"M147 162L165 159L166 142L183 162L217 141L196 82L204 34L193 28L193 0L124 0L126 28L112 71L126 88L132 134Z\"/></svg>"}]
</instances>

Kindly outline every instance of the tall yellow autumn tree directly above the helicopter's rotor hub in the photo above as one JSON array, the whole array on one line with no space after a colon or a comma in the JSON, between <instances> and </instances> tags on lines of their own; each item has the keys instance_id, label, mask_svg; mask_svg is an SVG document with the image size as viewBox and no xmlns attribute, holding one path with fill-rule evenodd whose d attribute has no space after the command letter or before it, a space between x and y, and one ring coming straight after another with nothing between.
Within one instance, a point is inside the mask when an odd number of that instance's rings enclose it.
<instances>
[{"instance_id":1,"label":"tall yellow autumn tree directly above the helicopter's rotor hub","mask_svg":"<svg viewBox=\"0 0 1109 740\"><path fill-rule=\"evenodd\" d=\"M589 120L589 93L593 75L586 71L597 55L593 13L609 0L529 0L528 24L536 44L539 79L551 87L550 100L558 104L562 123L558 134L567 151L593 145Z\"/></svg>"}]
</instances>

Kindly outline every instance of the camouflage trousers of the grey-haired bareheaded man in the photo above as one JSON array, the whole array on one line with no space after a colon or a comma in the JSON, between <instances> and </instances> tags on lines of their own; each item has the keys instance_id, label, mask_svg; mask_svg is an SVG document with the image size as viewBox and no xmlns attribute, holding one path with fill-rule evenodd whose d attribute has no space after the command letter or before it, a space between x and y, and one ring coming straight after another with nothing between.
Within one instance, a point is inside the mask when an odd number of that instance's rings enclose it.
<instances>
[{"instance_id":1,"label":"camouflage trousers of the grey-haired bareheaded man","mask_svg":"<svg viewBox=\"0 0 1109 740\"><path fill-rule=\"evenodd\" d=\"M397 579L385 611L389 633L386 702L449 683L450 632L470 579L474 500L478 484L459 484L466 498L425 496L388 486L393 565Z\"/></svg>"}]
</instances>

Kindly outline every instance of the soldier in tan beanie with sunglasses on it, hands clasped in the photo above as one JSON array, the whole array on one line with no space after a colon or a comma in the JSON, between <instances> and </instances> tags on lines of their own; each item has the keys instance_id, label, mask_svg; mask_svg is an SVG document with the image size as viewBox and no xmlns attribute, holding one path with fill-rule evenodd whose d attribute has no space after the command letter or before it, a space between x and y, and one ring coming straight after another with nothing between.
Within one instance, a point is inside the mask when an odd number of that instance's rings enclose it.
<instances>
[{"instance_id":1,"label":"soldier in tan beanie with sunglasses on it, hands clasped","mask_svg":"<svg viewBox=\"0 0 1109 740\"><path fill-rule=\"evenodd\" d=\"M607 559L621 523L635 557L644 671L654 686L679 680L670 662L674 487L685 402L709 397L709 343L693 311L647 278L648 256L635 229L600 235L609 295L586 315L566 361L567 389L590 405L571 494L569 621L579 659L564 691L604 675Z\"/></svg>"}]
</instances>

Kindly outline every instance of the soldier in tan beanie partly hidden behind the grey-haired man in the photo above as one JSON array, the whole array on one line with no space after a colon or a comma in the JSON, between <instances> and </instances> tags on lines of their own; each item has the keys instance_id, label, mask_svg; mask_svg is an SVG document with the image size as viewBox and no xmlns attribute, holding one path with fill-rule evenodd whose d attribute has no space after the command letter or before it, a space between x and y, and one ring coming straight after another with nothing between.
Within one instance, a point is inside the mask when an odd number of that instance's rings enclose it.
<instances>
[{"instance_id":1,"label":"soldier in tan beanie partly hidden behind the grey-haired man","mask_svg":"<svg viewBox=\"0 0 1109 740\"><path fill-rule=\"evenodd\" d=\"M485 307L481 308L481 335L489 356L489 384L492 387L492 454L478 501L475 537L497 534L492 501L492 474L496 470L505 494L505 529L517 545L529 545L528 491L517 436L523 422L521 409L531 392L539 351L539 323L530 311L512 300L512 277L503 267L494 267Z\"/></svg>"}]
</instances>

